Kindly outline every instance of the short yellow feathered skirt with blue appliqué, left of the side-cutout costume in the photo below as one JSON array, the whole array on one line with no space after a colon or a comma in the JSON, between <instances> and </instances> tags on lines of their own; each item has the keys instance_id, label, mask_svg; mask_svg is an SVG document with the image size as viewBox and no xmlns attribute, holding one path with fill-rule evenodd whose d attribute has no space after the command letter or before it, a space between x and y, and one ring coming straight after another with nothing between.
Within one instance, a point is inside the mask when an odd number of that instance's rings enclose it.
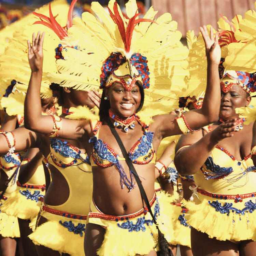
<instances>
[{"instance_id":1,"label":"short yellow feathered skirt with blue appliqu\u00e9, left of the side-cutout costume","mask_svg":"<svg viewBox=\"0 0 256 256\"><path fill-rule=\"evenodd\" d=\"M45 186L40 187L42 188L31 188L31 185L28 188L17 186L5 201L1 211L20 219L30 219L31 221L36 218L40 211L39 198L45 195Z\"/></svg>"}]
</instances>

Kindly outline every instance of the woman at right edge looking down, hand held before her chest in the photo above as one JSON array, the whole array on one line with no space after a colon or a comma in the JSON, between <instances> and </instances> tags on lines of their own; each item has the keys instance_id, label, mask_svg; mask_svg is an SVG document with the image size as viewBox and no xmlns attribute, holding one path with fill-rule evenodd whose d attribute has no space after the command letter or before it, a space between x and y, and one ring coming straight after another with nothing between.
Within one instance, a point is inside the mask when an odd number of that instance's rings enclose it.
<instances>
[{"instance_id":1,"label":"woman at right edge looking down, hand held before her chest","mask_svg":"<svg viewBox=\"0 0 256 256\"><path fill-rule=\"evenodd\" d=\"M234 70L239 67L239 61L234 59L241 59L239 54L244 54L243 47L246 48L245 43L237 43L234 33L235 29L242 29L243 21L240 16L232 23L226 21L225 17L219 21L219 42L222 57L227 60L224 67ZM236 56L232 55L233 47L237 49ZM245 119L238 118L235 111L250 104L256 80L254 74L232 70L220 69L222 100L218 122L182 136L174 159L180 174L194 174L197 184L193 200L185 203L188 224L193 227L191 247L195 255L253 255L256 248L252 123L243 125Z\"/></svg>"}]
</instances>

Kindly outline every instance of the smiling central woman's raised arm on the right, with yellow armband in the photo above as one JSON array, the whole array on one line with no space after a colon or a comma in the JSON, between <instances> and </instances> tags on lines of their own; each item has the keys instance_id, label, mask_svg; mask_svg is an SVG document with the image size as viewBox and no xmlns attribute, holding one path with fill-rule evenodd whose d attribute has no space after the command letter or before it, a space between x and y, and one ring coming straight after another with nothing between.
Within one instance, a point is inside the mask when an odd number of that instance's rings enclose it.
<instances>
[{"instance_id":1,"label":"smiling central woman's raised arm on the right, with yellow armband","mask_svg":"<svg viewBox=\"0 0 256 256\"><path fill-rule=\"evenodd\" d=\"M221 48L218 44L218 35L214 38L212 27L210 28L210 36L206 26L200 27L200 31L205 43L205 54L207 57L207 87L202 108L188 111L181 115L180 123L184 126L184 129L181 129L181 125L177 124L175 120L176 115L156 116L154 119L157 121L156 123L161 124L160 129L162 130L163 138L180 134L181 132L191 132L218 120L221 104L221 88L218 73Z\"/></svg>"}]
</instances>

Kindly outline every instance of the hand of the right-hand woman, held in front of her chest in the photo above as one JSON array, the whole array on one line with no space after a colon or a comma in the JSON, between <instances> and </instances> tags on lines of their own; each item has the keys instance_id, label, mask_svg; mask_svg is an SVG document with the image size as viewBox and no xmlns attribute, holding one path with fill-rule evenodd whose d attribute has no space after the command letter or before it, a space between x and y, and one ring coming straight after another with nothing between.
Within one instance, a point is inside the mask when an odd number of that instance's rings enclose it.
<instances>
[{"instance_id":1,"label":"hand of the right-hand woman, held in front of her chest","mask_svg":"<svg viewBox=\"0 0 256 256\"><path fill-rule=\"evenodd\" d=\"M225 138L232 137L232 132L234 131L238 131L236 119L227 120L212 131L212 139L219 142Z\"/></svg>"}]
</instances>

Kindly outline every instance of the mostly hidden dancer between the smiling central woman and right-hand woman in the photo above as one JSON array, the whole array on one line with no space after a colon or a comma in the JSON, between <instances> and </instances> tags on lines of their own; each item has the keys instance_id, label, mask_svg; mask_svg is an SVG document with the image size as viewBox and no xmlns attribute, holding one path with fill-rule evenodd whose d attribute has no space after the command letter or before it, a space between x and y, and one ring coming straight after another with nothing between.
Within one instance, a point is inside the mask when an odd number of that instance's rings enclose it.
<instances>
[{"instance_id":1,"label":"mostly hidden dancer between the smiling central woman and right-hand woman","mask_svg":"<svg viewBox=\"0 0 256 256\"><path fill-rule=\"evenodd\" d=\"M169 138L167 138L169 139ZM166 203L169 201L170 207L167 215L169 216L169 222L171 222L170 233L172 233L171 240L168 241L171 244L172 252L176 255L176 245L180 245L180 252L182 256L192 255L191 253L191 245L190 245L190 226L187 224L186 215L187 209L182 208L181 201L183 199L183 184L185 184L185 196L187 196L187 180L191 177L180 177L173 163L174 158L174 145L173 141L171 144L167 144L168 140L163 140L160 144L162 146L163 153L160 152L160 158L157 160L158 168L163 168L163 174L158 178L159 182L155 182L155 189L158 187L156 191L167 191L169 194L169 200L165 200ZM176 139L177 143L177 139ZM159 148L160 149L160 148ZM158 153L159 154L159 153ZM169 166L168 166L169 164ZM166 168L166 166L168 166ZM193 176L192 176L193 179ZM189 182L190 184L191 182ZM161 186L160 186L161 184ZM157 186L158 185L158 186ZM191 185L191 184L190 184ZM186 187L187 186L187 187ZM159 193L159 192L157 192ZM156 193L156 194L157 194ZM191 194L191 193L190 193ZM191 195L189 195L190 197ZM169 227L170 229L170 227ZM172 232L171 232L172 231Z\"/></svg>"}]
</instances>

